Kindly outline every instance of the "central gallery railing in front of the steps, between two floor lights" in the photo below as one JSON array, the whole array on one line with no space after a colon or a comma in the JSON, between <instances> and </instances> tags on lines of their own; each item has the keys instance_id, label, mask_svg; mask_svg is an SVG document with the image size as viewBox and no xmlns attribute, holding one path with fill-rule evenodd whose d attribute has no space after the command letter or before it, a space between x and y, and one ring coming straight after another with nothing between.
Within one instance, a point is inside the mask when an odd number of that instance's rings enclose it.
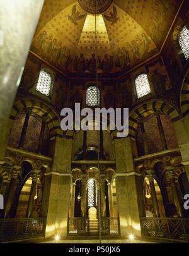
<instances>
[{"instance_id":1,"label":"central gallery railing in front of the steps, between two floor lights","mask_svg":"<svg viewBox=\"0 0 189 256\"><path fill-rule=\"evenodd\" d=\"M72 236L96 234L90 232L89 218L74 217L68 219L67 235ZM101 217L101 235L120 235L119 218Z\"/></svg>"}]
</instances>

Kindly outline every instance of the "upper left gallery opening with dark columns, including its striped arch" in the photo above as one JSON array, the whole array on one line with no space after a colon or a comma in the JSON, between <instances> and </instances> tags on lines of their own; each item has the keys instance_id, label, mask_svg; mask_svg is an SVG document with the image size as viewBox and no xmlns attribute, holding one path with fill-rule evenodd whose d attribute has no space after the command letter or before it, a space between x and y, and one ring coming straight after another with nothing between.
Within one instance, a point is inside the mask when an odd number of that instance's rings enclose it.
<instances>
[{"instance_id":1,"label":"upper left gallery opening with dark columns, including its striped arch","mask_svg":"<svg viewBox=\"0 0 189 256\"><path fill-rule=\"evenodd\" d=\"M52 140L62 135L59 116L48 105L36 99L14 104L10 116L9 147L52 156Z\"/></svg>"}]
</instances>

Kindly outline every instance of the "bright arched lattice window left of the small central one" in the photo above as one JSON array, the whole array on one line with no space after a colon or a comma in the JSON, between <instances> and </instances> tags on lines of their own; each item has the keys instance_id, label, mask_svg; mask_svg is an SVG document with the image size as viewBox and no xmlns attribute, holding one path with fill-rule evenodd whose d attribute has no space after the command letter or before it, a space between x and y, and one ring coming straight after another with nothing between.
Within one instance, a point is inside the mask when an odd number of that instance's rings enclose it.
<instances>
[{"instance_id":1,"label":"bright arched lattice window left of the small central one","mask_svg":"<svg viewBox=\"0 0 189 256\"><path fill-rule=\"evenodd\" d=\"M52 75L50 75L48 71L41 70L38 78L36 90L41 94L49 96L51 86L52 86Z\"/></svg>"}]
</instances>

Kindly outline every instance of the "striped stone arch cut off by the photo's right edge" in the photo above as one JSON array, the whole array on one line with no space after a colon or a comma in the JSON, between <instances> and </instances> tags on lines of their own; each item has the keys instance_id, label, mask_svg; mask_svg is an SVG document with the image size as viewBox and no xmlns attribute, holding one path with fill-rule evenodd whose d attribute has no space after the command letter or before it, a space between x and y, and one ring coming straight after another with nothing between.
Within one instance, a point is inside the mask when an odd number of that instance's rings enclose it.
<instances>
[{"instance_id":1,"label":"striped stone arch cut off by the photo's right edge","mask_svg":"<svg viewBox=\"0 0 189 256\"><path fill-rule=\"evenodd\" d=\"M189 114L189 70L181 88L181 111L184 117Z\"/></svg>"}]
</instances>

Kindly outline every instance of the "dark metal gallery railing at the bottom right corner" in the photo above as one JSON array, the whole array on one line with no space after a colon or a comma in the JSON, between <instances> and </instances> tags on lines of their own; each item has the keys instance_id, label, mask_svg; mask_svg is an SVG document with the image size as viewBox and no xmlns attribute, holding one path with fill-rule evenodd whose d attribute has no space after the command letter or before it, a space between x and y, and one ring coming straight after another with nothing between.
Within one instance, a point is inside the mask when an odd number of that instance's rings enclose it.
<instances>
[{"instance_id":1,"label":"dark metal gallery railing at the bottom right corner","mask_svg":"<svg viewBox=\"0 0 189 256\"><path fill-rule=\"evenodd\" d=\"M189 240L189 219L184 218L140 218L144 237Z\"/></svg>"}]
</instances>

